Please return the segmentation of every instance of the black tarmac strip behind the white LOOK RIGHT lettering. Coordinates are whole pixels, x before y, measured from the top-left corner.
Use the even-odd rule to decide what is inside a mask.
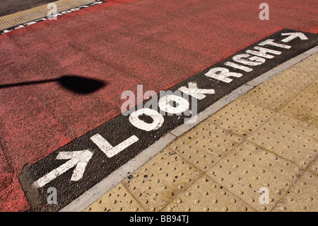
[[[290,33],[302,33],[303,35],[305,35],[305,38],[304,36],[302,36],[302,38],[293,37],[293,35],[290,35]],[[264,45],[264,42],[266,40],[270,40],[269,42],[273,42],[276,44]],[[284,41],[282,42],[282,40]],[[307,50],[310,50],[312,47],[317,46],[317,41],[317,34],[283,29],[281,31],[278,31],[277,33],[274,33],[273,35],[270,35],[267,38],[264,38],[264,40],[260,40],[254,45],[251,45],[244,50],[237,52],[235,55],[232,55],[227,59],[222,60],[221,62],[218,62],[217,64],[214,64],[207,69],[204,69],[199,74],[196,74],[193,77],[182,81],[169,90],[176,91],[182,86],[189,87],[189,83],[196,83],[198,89],[213,89],[215,91],[214,94],[204,94],[206,96],[205,98],[194,99],[195,101],[197,101],[197,113],[200,113],[205,108],[211,106],[220,98],[227,94],[230,94],[231,91],[234,91],[243,84],[246,84],[248,81],[257,78],[259,77],[259,75],[268,72],[270,69],[273,69],[279,64],[282,64],[283,62],[290,60],[297,55],[300,55],[302,52],[305,52]],[[287,46],[290,47],[286,48]],[[259,47],[263,47],[269,50],[275,50],[276,53],[267,52],[267,57],[270,57],[269,55],[272,55],[273,57],[271,59],[262,57],[266,60],[262,64],[259,64],[257,66],[248,65],[251,62],[259,62],[259,58],[251,58],[257,56]],[[250,53],[251,51],[249,50],[254,51],[255,55]],[[281,54],[278,55],[277,51],[281,52]],[[243,57],[243,59],[242,55],[246,56],[247,54],[249,56],[245,58]],[[241,62],[245,64],[238,62],[238,58],[240,58],[241,60],[243,59]],[[233,59],[236,59],[236,61],[234,61]],[[225,62],[232,62],[237,65],[245,66],[252,69],[252,71],[246,72],[242,69],[242,67],[241,69],[237,69],[232,66],[226,66]],[[223,68],[223,70],[228,69],[229,72],[240,73],[242,74],[242,76],[228,77],[232,79],[232,81],[225,82],[221,81],[220,79],[208,77],[207,75],[205,75],[208,72],[211,72],[211,69],[215,68]],[[185,96],[187,95],[184,95],[183,97],[186,98]],[[189,108],[192,108],[192,98],[188,99],[190,100]],[[151,101],[151,99],[148,101]],[[148,101],[144,101],[142,106],[145,106]],[[173,103],[170,104],[174,105]],[[177,104],[175,104],[175,106],[177,106]],[[159,140],[160,137],[163,137],[163,135],[165,135],[167,132],[176,128],[178,125],[182,125],[185,118],[190,117],[191,115],[186,116],[183,113],[182,115],[165,114],[163,115],[164,122],[159,128],[146,131],[136,128],[134,125],[132,125],[129,121],[129,115],[125,116],[121,114],[116,118],[108,121],[107,123],[100,125],[98,128],[95,128],[94,130],[88,132],[86,135],[78,137],[76,140],[73,140],[73,142],[70,142],[68,145],[60,147],[59,149],[57,149],[57,151],[49,154],[49,156],[41,159],[39,162],[36,162],[33,165],[25,166],[23,168],[23,172],[19,176],[19,179],[20,183],[23,186],[23,190],[25,191],[25,194],[28,198],[28,201],[30,202],[30,205],[32,207],[30,211],[61,210],[61,208],[64,208],[66,205],[71,203],[72,200],[81,196],[83,193],[85,193],[85,191],[88,191],[88,189],[93,187],[96,183],[99,183],[100,181],[102,181],[102,179],[105,179],[114,170],[118,169],[126,162],[129,162],[129,160],[133,159],[137,154],[142,152],[143,149],[146,149],[155,141]],[[153,122],[151,116],[149,115],[139,117],[139,119],[143,120],[145,123],[151,124]],[[113,147],[119,145],[119,143],[123,142],[133,135],[138,137],[138,141],[132,143],[118,154],[115,154],[113,157],[108,158],[106,154],[102,152],[102,150],[97,145],[95,145],[92,140],[90,140],[90,137],[93,137],[96,134],[101,135]],[[82,150],[89,150],[93,153],[93,156],[90,158],[88,164],[86,165],[85,172],[83,173],[83,177],[81,179],[79,179],[78,181],[71,181],[71,177],[74,176],[76,171],[76,167],[73,166],[67,171],[64,171],[64,173],[49,181],[49,183],[45,184],[44,186],[40,188],[36,188],[35,186],[33,186],[35,181],[43,178],[43,176],[49,174],[49,172],[56,170],[62,164],[70,161],[69,159],[57,159],[57,156],[60,152],[74,152]],[[50,190],[48,189],[51,187],[56,188],[57,190],[57,204],[49,204],[47,202],[47,198],[50,195],[50,193],[48,193],[48,191]]]

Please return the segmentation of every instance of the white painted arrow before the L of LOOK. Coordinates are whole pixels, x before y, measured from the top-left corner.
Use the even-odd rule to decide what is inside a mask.
[[[84,171],[86,169],[86,165],[90,161],[90,158],[93,156],[93,152],[90,152],[89,149],[77,152],[59,152],[57,155],[57,159],[70,159],[68,162],[62,164],[61,166],[57,167],[50,171],[45,176],[42,176],[40,179],[33,183],[35,188],[41,188],[45,186],[45,184],[53,181],[61,174],[64,174],[69,169],[76,166],[73,171],[73,175],[71,177],[71,181],[79,181],[82,179]]]

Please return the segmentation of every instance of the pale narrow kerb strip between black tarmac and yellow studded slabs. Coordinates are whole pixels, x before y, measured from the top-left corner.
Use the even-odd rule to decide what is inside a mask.
[[[216,101],[216,103],[213,103],[211,106],[206,108],[204,111],[201,111],[197,115],[196,123],[183,124],[175,128],[174,130],[171,130],[165,136],[160,138],[160,140],[153,143],[153,145],[144,149],[140,154],[134,157],[134,159],[131,159],[122,167],[112,172],[112,174],[100,181],[100,183],[95,184],[95,186],[83,193],[83,195],[81,195],[80,197],[76,198],[76,200],[73,200],[69,205],[66,205],[64,208],[60,210],[60,212],[81,212],[85,210],[90,204],[94,203],[95,200],[98,200],[98,198],[110,191],[112,188],[114,188],[114,186],[117,186],[118,183],[124,180],[132,172],[136,171],[136,169],[139,169],[140,166],[142,166],[150,159],[155,157],[156,154],[158,154],[161,150],[167,147],[167,145],[169,145],[177,137],[183,135],[184,132],[191,130],[213,113],[216,113],[232,101],[235,101],[237,98],[247,93],[247,91],[254,89],[255,86],[258,86],[262,82],[271,79],[276,74],[285,71],[285,69],[292,67],[293,65],[297,64],[302,60],[305,60],[307,57],[310,57],[311,55],[314,55],[317,52],[318,45],[310,50],[307,50],[306,52],[303,52],[297,57],[283,62],[283,64],[280,64],[277,67],[274,67],[273,69],[269,70],[268,72],[261,74],[259,77],[247,82],[247,84],[244,84],[239,88],[235,89],[230,94],[224,96],[223,98],[220,98],[220,100]]]

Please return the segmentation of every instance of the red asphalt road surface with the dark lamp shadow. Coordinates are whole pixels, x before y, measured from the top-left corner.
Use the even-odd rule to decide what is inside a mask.
[[[107,86],[74,94],[50,82],[0,89],[0,211],[29,210],[18,181],[33,164],[120,114],[122,91],[165,90],[283,28],[318,32],[317,0],[108,0],[0,35],[0,86],[63,75]]]

